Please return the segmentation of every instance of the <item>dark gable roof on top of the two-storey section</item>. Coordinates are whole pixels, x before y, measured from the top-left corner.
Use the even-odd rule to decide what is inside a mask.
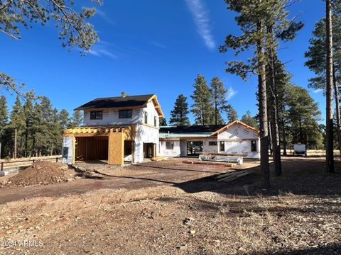
[[[107,98],[94,98],[92,101],[78,106],[75,111],[87,109],[104,109],[104,108],[136,108],[145,107],[147,103],[153,101],[159,117],[163,118],[161,106],[155,94],[138,95],[138,96],[115,96]]]

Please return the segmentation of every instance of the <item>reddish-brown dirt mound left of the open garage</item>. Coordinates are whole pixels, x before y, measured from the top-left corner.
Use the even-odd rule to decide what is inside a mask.
[[[54,162],[35,162],[8,180],[9,185],[29,186],[67,181],[69,166]]]

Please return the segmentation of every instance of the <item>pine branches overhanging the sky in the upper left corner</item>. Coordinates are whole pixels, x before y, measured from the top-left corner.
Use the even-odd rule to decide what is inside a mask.
[[[101,4],[100,0],[95,0]],[[32,28],[32,23],[42,26],[55,21],[63,47],[79,47],[81,54],[90,51],[98,41],[97,33],[87,19],[94,16],[96,8],[82,7],[77,11],[73,1],[0,1],[0,32],[13,39],[21,38],[21,28]],[[17,91],[15,80],[0,70],[0,86]]]

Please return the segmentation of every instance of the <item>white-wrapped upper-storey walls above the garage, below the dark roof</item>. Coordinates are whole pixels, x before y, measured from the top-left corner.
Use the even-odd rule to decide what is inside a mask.
[[[127,108],[129,110],[129,108]],[[153,102],[147,103],[144,108],[131,108],[131,118],[119,118],[119,109],[104,109],[102,120],[90,120],[90,112],[102,111],[100,109],[84,110],[83,125],[127,125],[144,123],[144,113],[148,113],[149,125],[154,125],[154,116],[156,116],[156,126],[158,127],[158,113]]]

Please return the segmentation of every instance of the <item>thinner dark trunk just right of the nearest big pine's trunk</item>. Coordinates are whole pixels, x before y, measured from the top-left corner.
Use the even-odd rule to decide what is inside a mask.
[[[272,36],[272,29],[269,28],[268,33]],[[273,42],[269,47],[269,68],[270,68],[270,91],[271,91],[271,142],[272,149],[274,151],[274,168],[276,176],[282,175],[282,163],[281,163],[281,147],[279,145],[279,131],[278,131],[278,103],[277,103],[277,88],[275,80],[275,56]]]

